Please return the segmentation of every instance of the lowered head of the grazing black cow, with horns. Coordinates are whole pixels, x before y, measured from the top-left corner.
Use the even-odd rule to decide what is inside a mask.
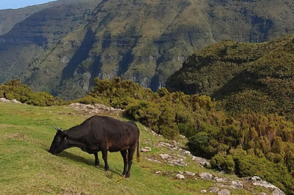
[[[51,143],[49,152],[51,154],[58,154],[62,152],[64,149],[68,148],[68,138],[69,136],[64,132],[64,130],[56,127],[54,125],[54,128],[56,129],[56,135],[54,136],[54,139]]]

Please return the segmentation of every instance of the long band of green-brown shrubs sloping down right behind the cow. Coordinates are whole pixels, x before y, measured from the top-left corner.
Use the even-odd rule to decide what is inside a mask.
[[[255,112],[228,117],[216,111],[216,102],[208,96],[169,93],[166,88],[155,93],[119,78],[96,78],[95,83],[85,97],[90,102],[125,109],[126,115],[169,139],[181,133],[188,137],[191,152],[212,158],[213,167],[240,176],[259,175],[294,194],[294,125],[285,117]]]

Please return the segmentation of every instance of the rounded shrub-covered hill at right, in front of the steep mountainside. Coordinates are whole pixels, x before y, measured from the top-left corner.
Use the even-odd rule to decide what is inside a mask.
[[[264,43],[222,41],[191,56],[167,88],[210,95],[232,115],[253,110],[293,121],[293,51],[293,35]]]

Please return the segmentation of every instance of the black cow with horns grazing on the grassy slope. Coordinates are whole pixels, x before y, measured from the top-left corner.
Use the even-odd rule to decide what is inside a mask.
[[[123,122],[111,117],[93,116],[81,125],[71,127],[69,130],[54,127],[57,132],[49,149],[51,154],[58,154],[67,148],[78,147],[84,152],[94,154],[95,166],[99,166],[97,153],[101,151],[105,170],[109,171],[107,151],[120,151],[124,163],[122,175],[126,178],[130,177],[136,148],[137,160],[139,161],[139,129],[135,122]]]

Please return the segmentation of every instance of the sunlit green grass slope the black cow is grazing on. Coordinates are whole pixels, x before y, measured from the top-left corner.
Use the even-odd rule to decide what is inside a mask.
[[[123,161],[119,152],[108,153],[111,172],[93,166],[94,156],[78,148],[67,149],[54,156],[48,151],[56,130],[53,124],[69,128],[87,117],[71,115],[67,107],[34,107],[0,103],[0,194],[202,194],[214,186],[201,179],[170,179],[178,171],[212,172],[191,159],[188,167],[150,162],[144,157],[167,153],[152,143],[167,141],[154,136],[138,124],[140,147],[149,146],[151,153],[141,153],[141,161],[133,162],[131,177],[121,179]],[[152,143],[151,143],[152,142]],[[156,176],[155,171],[167,171]],[[215,173],[217,174],[217,173]],[[229,176],[233,177],[233,176]],[[209,190],[208,190],[209,191]],[[233,191],[245,194],[245,190]],[[210,194],[210,193],[206,193]]]

